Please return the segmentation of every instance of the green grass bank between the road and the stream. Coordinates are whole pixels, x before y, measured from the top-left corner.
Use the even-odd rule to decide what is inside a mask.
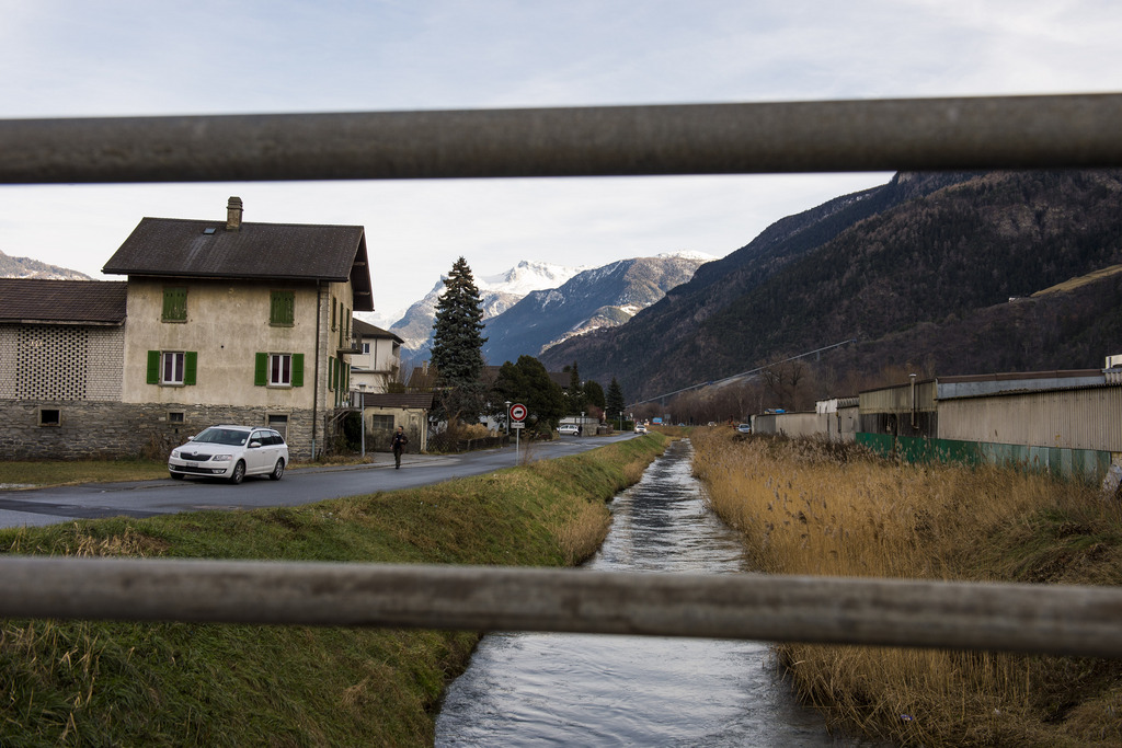
[[[585,454],[298,508],[0,530],[0,552],[563,566],[659,434]],[[0,745],[425,746],[473,631],[0,621]]]

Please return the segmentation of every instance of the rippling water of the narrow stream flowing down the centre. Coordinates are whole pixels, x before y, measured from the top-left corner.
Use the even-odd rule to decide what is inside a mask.
[[[597,571],[745,570],[675,442],[610,505]],[[493,634],[449,687],[436,746],[853,746],[798,704],[765,644]]]

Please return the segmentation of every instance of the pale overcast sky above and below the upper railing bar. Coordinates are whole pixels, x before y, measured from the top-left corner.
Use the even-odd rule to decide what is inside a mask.
[[[0,118],[1122,91],[1116,0],[0,0]],[[0,187],[0,251],[102,278],[142,216],[366,227],[388,325],[459,256],[723,257],[888,174]]]

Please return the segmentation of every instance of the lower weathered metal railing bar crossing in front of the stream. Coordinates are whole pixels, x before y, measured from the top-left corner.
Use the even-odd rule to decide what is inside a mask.
[[[1122,590],[491,566],[0,558],[0,617],[573,631],[1122,656]]]

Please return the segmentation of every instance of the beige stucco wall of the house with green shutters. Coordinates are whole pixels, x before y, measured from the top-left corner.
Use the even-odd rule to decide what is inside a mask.
[[[165,286],[187,288],[187,321],[163,322]],[[294,324],[269,324],[269,294],[295,294]],[[236,405],[266,410],[311,408],[319,389],[320,409],[328,399],[327,358],[339,342],[331,325],[331,298],[350,306],[350,284],[329,284],[322,301],[315,284],[248,281],[178,281],[129,278],[128,335],[125,345],[126,403]],[[346,299],[346,301],[344,301]],[[316,347],[316,311],[320,345]],[[148,351],[196,351],[193,386],[147,384]],[[303,387],[254,385],[255,354],[303,353]],[[319,388],[316,388],[316,376]]]

